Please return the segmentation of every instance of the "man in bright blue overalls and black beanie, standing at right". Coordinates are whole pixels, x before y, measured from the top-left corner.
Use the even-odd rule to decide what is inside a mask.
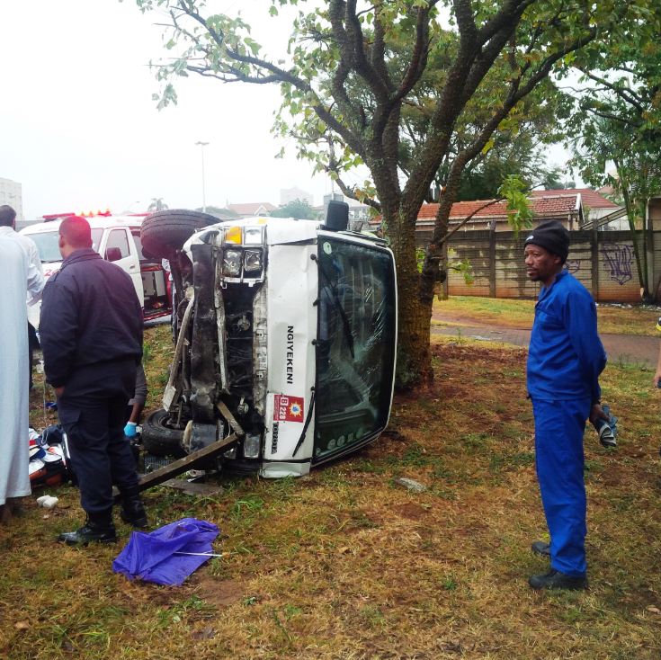
[[[535,418],[535,461],[550,543],[532,550],[550,557],[550,570],[532,575],[533,589],[585,589],[585,420],[607,418],[599,374],[606,354],[597,334],[594,300],[564,270],[569,232],[542,222],[525,239],[525,267],[539,281],[527,385]]]

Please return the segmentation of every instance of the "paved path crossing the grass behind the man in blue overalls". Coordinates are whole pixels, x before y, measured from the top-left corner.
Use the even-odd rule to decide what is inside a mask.
[[[489,326],[432,326],[432,334],[471,337],[483,341],[513,343],[528,347],[530,330]],[[640,364],[655,368],[659,350],[657,337],[639,337],[633,334],[601,334],[603,346],[608,353],[608,361]]]

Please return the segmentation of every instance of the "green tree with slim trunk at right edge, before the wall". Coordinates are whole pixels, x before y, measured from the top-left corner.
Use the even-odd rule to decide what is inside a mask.
[[[588,68],[589,67],[589,68]],[[571,90],[572,166],[594,186],[611,185],[627,210],[642,298],[648,280],[648,199],[661,194],[661,46],[620,44],[581,66]]]

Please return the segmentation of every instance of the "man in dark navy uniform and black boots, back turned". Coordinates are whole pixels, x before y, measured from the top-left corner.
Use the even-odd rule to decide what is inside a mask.
[[[142,357],[142,308],[130,276],[92,249],[84,218],[62,221],[59,251],[62,267],[43,292],[40,340],[87,520],[58,540],[112,542],[113,484],[122,497],[121,518],[147,525],[135,460],[124,438]]]

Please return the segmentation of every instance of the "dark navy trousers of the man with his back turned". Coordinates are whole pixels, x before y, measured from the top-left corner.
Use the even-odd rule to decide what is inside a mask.
[[[124,437],[124,417],[135,388],[134,361],[94,365],[76,371],[58,398],[71,464],[86,513],[112,509],[112,485],[138,486],[136,462]]]

